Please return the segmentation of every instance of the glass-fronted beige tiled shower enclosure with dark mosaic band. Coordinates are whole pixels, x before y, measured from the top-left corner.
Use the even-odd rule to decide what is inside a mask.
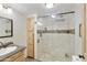
[[[39,17],[36,25],[37,59],[72,61],[75,44],[74,11],[51,15]]]

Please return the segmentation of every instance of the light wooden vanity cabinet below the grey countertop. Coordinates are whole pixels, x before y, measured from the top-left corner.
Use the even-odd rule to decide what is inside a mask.
[[[24,62],[24,61],[25,61],[24,51],[21,51],[6,58],[3,62]]]

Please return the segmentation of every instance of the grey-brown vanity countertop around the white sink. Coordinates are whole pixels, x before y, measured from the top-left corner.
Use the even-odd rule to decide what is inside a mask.
[[[25,46],[20,46],[20,45],[10,45],[10,46],[18,46],[18,48],[15,51],[7,54],[7,55],[0,56],[0,62],[2,62],[3,59],[6,59],[6,58],[8,58],[8,57],[10,57],[10,56],[12,56],[12,55],[17,54],[18,52],[20,52],[20,51],[25,48]]]

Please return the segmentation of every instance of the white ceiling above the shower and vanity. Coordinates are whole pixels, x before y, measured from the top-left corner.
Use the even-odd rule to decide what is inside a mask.
[[[47,9],[45,3],[7,3],[4,6],[9,6],[12,9],[18,10],[22,14],[53,14],[64,11],[70,11],[75,7],[75,3],[55,3],[54,8]]]

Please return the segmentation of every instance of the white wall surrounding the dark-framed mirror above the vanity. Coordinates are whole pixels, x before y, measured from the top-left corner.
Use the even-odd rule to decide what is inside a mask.
[[[12,14],[7,14],[7,11],[0,11],[0,17],[9,18],[13,20],[13,36],[0,39],[0,42],[10,42],[14,44],[24,45],[26,43],[25,36],[25,15],[21,14],[17,10],[13,10]]]

